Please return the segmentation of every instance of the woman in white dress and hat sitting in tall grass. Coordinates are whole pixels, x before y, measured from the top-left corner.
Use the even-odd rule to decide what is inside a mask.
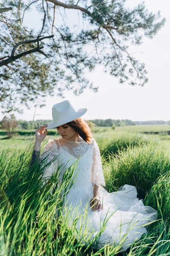
[[[55,158],[45,169],[43,184],[57,172],[58,166],[58,178],[62,180],[65,171],[76,163],[73,176],[74,178],[76,175],[76,179],[66,197],[67,205],[78,206],[79,215],[86,207],[87,225],[89,232],[94,231],[94,235],[100,232],[101,224],[106,223],[106,228],[99,238],[98,248],[105,244],[121,242],[123,251],[130,247],[134,240],[140,239],[143,233],[147,233],[145,227],[156,219],[157,212],[144,206],[142,200],[137,198],[134,186],[126,184],[119,191],[112,193],[102,187],[105,186],[105,179],[99,147],[88,123],[80,117],[86,111],[86,108],[76,111],[69,101],[54,105],[53,121],[40,126],[35,132],[36,141],[31,164],[40,155],[40,147],[47,135],[47,129],[57,128],[61,137],[49,140],[40,156],[40,160],[47,157],[48,161],[51,161]],[[74,215],[72,216],[71,220],[74,218]],[[77,229],[82,227],[85,228],[77,222]]]

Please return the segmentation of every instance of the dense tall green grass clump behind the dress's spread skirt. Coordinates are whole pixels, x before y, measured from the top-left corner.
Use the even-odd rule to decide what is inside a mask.
[[[170,158],[164,148],[152,141],[148,145],[119,151],[118,155],[109,155],[105,161],[109,192],[124,184],[136,186],[139,198],[144,198],[156,179],[170,171]]]

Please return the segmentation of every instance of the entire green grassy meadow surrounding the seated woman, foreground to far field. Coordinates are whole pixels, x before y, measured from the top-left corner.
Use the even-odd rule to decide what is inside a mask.
[[[6,139],[0,135],[0,256],[167,256],[170,255],[170,125],[95,127],[105,189],[114,192],[124,184],[136,186],[138,198],[158,211],[147,234],[126,252],[121,244],[97,249],[98,238],[76,233],[75,222],[62,215],[62,196],[72,185],[74,166],[68,169],[61,186],[57,172],[45,186],[41,175],[45,165],[29,167],[34,131],[19,131]],[[50,130],[48,140],[57,138]],[[47,166],[46,166],[47,167]],[[67,209],[69,211],[69,209]],[[76,211],[76,209],[75,209]],[[77,216],[82,218],[83,216]],[[107,225],[107,223],[105,224]],[[102,230],[101,230],[102,232]],[[77,235],[77,236],[76,236]],[[125,235],[126,239],[126,235]]]

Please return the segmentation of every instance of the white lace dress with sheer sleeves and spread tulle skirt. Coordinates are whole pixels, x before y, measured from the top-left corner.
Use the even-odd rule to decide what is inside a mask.
[[[47,157],[48,155],[48,157]],[[155,209],[144,206],[142,200],[137,198],[136,187],[125,184],[117,192],[108,193],[102,186],[105,180],[102,171],[100,151],[96,141],[88,144],[81,139],[79,143],[67,143],[64,140],[49,140],[45,146],[40,160],[47,157],[50,161],[57,158],[45,169],[43,178],[44,184],[51,175],[59,169],[59,180],[71,165],[76,162],[76,170],[73,178],[77,175],[73,186],[66,197],[67,206],[73,206],[67,212],[70,217],[69,225],[75,218],[75,208],[78,215],[86,212],[86,227],[82,224],[82,219],[77,220],[77,230],[84,231],[88,228],[89,234],[93,232],[91,239],[100,232],[103,223],[105,229],[98,239],[97,248],[105,244],[122,244],[121,250],[126,250],[133,241],[140,239],[143,233],[147,233],[146,227],[156,219]],[[78,160],[78,161],[77,161]],[[90,200],[93,198],[93,186],[96,184],[100,188],[100,198],[104,209],[92,211]],[[64,214],[64,213],[63,213]],[[77,232],[75,232],[77,233]],[[81,236],[80,236],[81,237]]]

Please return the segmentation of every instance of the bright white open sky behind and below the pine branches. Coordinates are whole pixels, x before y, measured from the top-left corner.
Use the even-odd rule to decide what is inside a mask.
[[[141,1],[128,0],[127,3],[129,6],[136,6]],[[37,116],[34,119],[52,119],[53,105],[68,99],[77,109],[88,108],[82,116],[84,119],[170,120],[170,3],[167,0],[145,0],[145,5],[154,13],[160,10],[162,17],[167,20],[153,39],[143,38],[141,46],[133,46],[129,50],[134,53],[133,56],[146,64],[149,82],[144,87],[132,87],[128,83],[122,85],[116,78],[103,73],[101,66],[86,74],[94,86],[99,86],[97,93],[87,89],[80,96],[68,91],[65,93],[65,99],[47,96],[46,106],[37,107]],[[34,18],[36,20],[36,17]],[[35,23],[32,17],[30,19]],[[17,119],[32,120],[35,108],[24,110],[23,114],[15,113]],[[0,119],[3,116],[0,113]]]

